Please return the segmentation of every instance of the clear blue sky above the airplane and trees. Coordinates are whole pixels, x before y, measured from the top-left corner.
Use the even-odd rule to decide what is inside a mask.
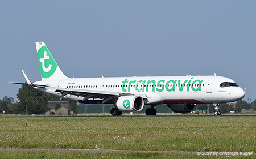
[[[40,80],[35,41],[65,75],[226,76],[256,98],[256,1],[1,1],[0,98]]]

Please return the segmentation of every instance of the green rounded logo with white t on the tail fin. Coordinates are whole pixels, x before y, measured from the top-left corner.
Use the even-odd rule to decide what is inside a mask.
[[[46,46],[42,46],[38,50],[38,59],[42,78],[51,77],[57,68],[57,63]]]

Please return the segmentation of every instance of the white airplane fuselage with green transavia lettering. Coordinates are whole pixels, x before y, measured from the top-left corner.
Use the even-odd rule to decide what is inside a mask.
[[[145,96],[145,104],[200,104],[223,103],[240,100],[245,92],[240,87],[220,87],[223,82],[234,83],[222,76],[147,76],[122,78],[68,78],[63,80],[43,80],[35,84],[49,85],[38,88],[61,97],[56,89],[76,90],[77,92],[118,92]],[[67,100],[82,101],[84,97],[68,95]],[[98,102],[93,102],[98,101]],[[89,98],[85,103],[101,103]]]

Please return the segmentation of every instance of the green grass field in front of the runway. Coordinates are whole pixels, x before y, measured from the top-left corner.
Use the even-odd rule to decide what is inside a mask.
[[[0,118],[0,148],[256,152],[255,136],[256,117]],[[18,156],[43,155],[42,152],[15,153]],[[48,152],[49,155],[54,153],[57,155],[61,152]],[[109,158],[106,157],[108,155],[113,158],[134,158],[137,154],[147,158],[150,153],[64,154],[96,155],[92,158],[98,158],[98,155],[104,158]],[[159,158],[158,155],[184,157],[183,154],[158,153],[150,156]]]

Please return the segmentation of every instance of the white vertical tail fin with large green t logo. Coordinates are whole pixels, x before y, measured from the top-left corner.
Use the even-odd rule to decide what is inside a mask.
[[[42,80],[67,79],[44,42],[36,42]]]

